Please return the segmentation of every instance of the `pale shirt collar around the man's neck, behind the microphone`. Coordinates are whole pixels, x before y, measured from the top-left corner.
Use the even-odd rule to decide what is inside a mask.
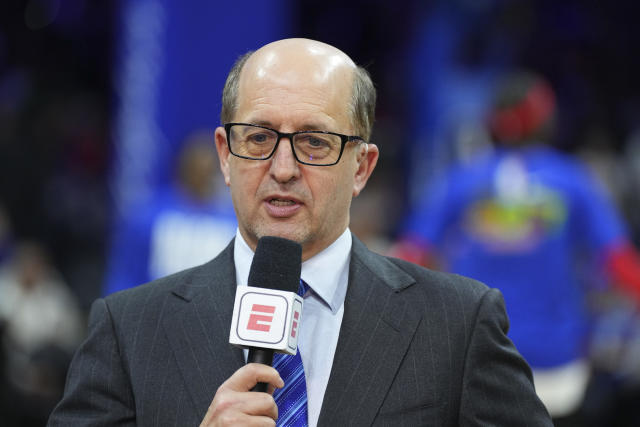
[[[331,308],[333,313],[338,311],[347,292],[351,244],[351,231],[347,228],[331,245],[302,263],[302,280]],[[236,267],[236,285],[246,285],[253,261],[253,251],[242,238],[240,230],[236,230],[233,257]]]

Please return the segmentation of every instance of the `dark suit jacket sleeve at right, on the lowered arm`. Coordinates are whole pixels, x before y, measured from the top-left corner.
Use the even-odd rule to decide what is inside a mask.
[[[506,336],[502,294],[481,298],[465,357],[460,425],[553,426],[533,386],[531,369]]]

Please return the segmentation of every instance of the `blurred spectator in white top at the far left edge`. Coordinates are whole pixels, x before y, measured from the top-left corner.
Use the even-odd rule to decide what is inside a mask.
[[[0,324],[7,425],[43,425],[62,396],[84,320],[44,249],[20,243],[0,267]]]

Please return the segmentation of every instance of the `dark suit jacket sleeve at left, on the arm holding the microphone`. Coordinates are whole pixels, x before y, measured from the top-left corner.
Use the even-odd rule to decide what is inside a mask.
[[[135,417],[111,314],[98,299],[91,307],[88,337],[71,362],[64,396],[47,425],[135,426]]]

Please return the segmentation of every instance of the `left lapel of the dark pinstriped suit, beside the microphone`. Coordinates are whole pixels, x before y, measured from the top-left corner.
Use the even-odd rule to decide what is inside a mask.
[[[244,365],[242,350],[228,344],[235,298],[233,241],[213,261],[173,290],[178,310],[164,331],[198,411],[206,412],[220,384]]]

